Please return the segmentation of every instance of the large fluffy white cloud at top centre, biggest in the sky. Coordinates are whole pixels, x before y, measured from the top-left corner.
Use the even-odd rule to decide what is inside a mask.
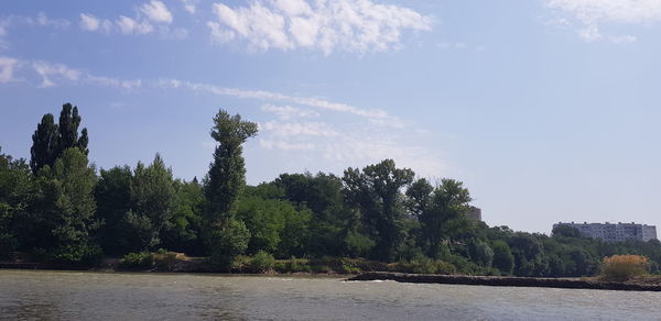
[[[371,0],[256,0],[249,7],[214,3],[212,37],[243,41],[251,49],[383,52],[401,46],[404,30],[429,31],[432,18]]]

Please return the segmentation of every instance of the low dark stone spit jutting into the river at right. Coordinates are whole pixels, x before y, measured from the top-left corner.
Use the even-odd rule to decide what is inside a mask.
[[[659,278],[635,278],[628,281],[603,281],[597,278],[537,278],[466,275],[424,275],[369,272],[350,277],[351,281],[394,280],[413,284],[475,285],[496,287],[540,287],[561,289],[598,289],[621,291],[661,291]]]

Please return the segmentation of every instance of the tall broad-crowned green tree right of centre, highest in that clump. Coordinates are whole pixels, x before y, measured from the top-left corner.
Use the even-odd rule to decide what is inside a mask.
[[[369,239],[376,240],[375,258],[391,261],[404,237],[404,209],[401,189],[413,181],[415,174],[397,168],[386,159],[361,170],[348,168],[343,181],[348,203],[358,209]]]

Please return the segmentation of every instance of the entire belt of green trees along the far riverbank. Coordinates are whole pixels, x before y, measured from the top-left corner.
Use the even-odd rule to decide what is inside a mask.
[[[57,123],[45,114],[37,124],[30,162],[0,150],[0,257],[90,266],[104,255],[165,248],[207,256],[219,268],[268,253],[517,276],[594,275],[614,254],[644,255],[653,272],[661,263],[657,240],[606,243],[568,226],[546,236],[473,221],[460,181],[432,184],[392,159],[342,176],[282,174],[247,186],[242,145],[258,126],[225,110],[213,119],[217,145],[202,180],[174,178],[159,154],[97,170],[80,124],[77,107],[66,103]]]

